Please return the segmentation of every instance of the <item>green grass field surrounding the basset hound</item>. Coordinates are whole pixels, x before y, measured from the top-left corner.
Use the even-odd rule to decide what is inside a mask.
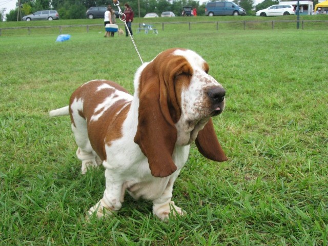
[[[91,79],[133,93],[131,39],[0,37],[1,245],[327,245],[328,33],[176,27],[135,33],[136,45],[145,61],[172,47],[208,61],[227,90],[214,124],[229,161],[192,145],[173,197],[187,215],[168,222],[129,195],[116,215],[86,221],[104,170],[81,175],[69,117],[48,116]]]

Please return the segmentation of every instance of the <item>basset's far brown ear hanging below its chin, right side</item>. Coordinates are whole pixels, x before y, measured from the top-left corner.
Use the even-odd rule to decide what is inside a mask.
[[[211,118],[204,126],[204,128],[198,132],[195,144],[199,152],[208,159],[214,161],[228,160],[216,137],[213,121]]]

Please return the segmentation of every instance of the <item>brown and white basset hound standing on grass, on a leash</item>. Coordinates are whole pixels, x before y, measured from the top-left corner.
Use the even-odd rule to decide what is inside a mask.
[[[92,80],[69,106],[50,111],[70,115],[82,173],[105,167],[104,196],[88,214],[118,211],[126,191],[151,200],[161,220],[185,213],[171,198],[190,144],[211,160],[227,160],[211,119],[222,113],[226,92],[208,71],[194,51],[169,49],[137,70],[133,96],[113,81]]]

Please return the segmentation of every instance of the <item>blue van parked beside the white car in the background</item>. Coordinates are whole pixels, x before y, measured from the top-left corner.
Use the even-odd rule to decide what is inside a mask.
[[[205,7],[205,15],[245,15],[246,11],[233,2],[209,2]]]

